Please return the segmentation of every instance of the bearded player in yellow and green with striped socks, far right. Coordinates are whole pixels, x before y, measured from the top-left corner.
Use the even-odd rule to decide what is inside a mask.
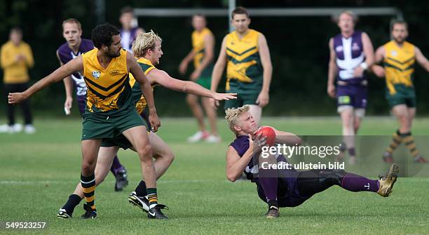
[[[383,67],[374,65],[376,76],[386,77],[386,100],[396,116],[400,128],[393,133],[393,140],[383,154],[384,161],[393,162],[393,151],[402,142],[407,146],[414,161],[428,162],[418,152],[411,135],[411,126],[416,115],[416,92],[413,86],[414,64],[416,61],[429,72],[429,61],[418,47],[405,41],[408,36],[407,22],[395,20],[392,23],[392,41],[380,46],[375,55],[377,63],[383,61]]]

